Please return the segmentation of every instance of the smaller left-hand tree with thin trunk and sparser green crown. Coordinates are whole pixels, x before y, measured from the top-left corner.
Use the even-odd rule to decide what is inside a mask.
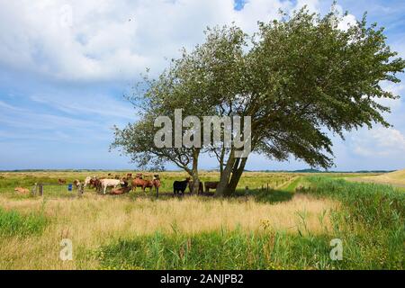
[[[154,135],[159,128],[154,121],[166,116],[175,123],[175,109],[182,109],[183,117],[196,116],[200,121],[205,115],[218,114],[217,109],[224,103],[217,95],[234,94],[229,87],[235,85],[239,76],[234,73],[235,57],[242,55],[245,34],[236,27],[229,30],[207,30],[207,41],[197,46],[192,53],[183,50],[183,56],[172,59],[171,65],[157,80],[145,76],[143,82],[128,98],[139,109],[139,121],[128,124],[124,129],[115,127],[112,148],[121,148],[123,154],[141,167],[161,167],[166,162],[175,163],[193,177],[193,192],[198,191],[198,157],[203,150],[213,148],[157,148]],[[220,90],[220,93],[219,93]],[[193,130],[193,125],[182,130]],[[170,136],[175,142],[175,134]]]

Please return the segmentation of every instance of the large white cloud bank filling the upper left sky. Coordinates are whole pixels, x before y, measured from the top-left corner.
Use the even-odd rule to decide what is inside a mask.
[[[318,0],[300,0],[316,10]],[[158,73],[166,57],[202,41],[206,26],[235,22],[247,31],[292,1],[0,0],[0,65],[67,81],[133,80]]]

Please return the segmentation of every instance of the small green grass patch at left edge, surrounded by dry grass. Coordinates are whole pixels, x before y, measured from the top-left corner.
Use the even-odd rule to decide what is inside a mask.
[[[48,224],[41,212],[22,215],[18,211],[5,211],[0,207],[0,237],[27,237],[40,235]]]

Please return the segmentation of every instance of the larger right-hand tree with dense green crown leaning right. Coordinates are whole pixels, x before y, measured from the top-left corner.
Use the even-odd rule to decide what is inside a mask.
[[[393,58],[397,53],[386,45],[383,29],[366,27],[364,17],[342,31],[335,12],[321,18],[305,8],[259,27],[247,53],[246,101],[238,110],[252,116],[254,151],[329,168],[333,152],[326,130],[344,139],[344,130],[389,126],[383,112],[390,109],[376,99],[395,98],[381,82],[400,82],[395,74],[405,62]],[[246,162],[230,151],[217,193],[235,191]]]

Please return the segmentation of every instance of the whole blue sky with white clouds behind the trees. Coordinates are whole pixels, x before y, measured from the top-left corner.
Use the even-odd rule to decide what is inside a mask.
[[[325,14],[327,0],[0,0],[0,170],[136,169],[109,151],[113,125],[137,120],[123,95],[146,67],[152,76],[203,40],[207,26],[257,21],[307,4]],[[338,1],[345,23],[361,19],[385,27],[388,43],[405,58],[405,1]],[[405,80],[404,75],[400,75]],[[354,171],[405,168],[405,83],[385,89],[401,95],[384,101],[392,128],[375,126],[334,137],[336,166]],[[205,155],[200,167],[216,163]],[[167,165],[168,169],[175,166]],[[249,170],[295,170],[308,165],[252,155]]]

